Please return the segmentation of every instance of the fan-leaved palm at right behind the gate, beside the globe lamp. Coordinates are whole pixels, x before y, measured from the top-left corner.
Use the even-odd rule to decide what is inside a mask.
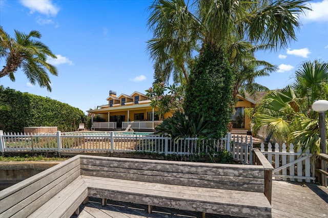
[[[318,113],[311,106],[315,100],[328,97],[328,62],[304,62],[295,74],[292,85],[263,98],[255,114],[256,125],[268,125],[281,141],[319,154]]]

